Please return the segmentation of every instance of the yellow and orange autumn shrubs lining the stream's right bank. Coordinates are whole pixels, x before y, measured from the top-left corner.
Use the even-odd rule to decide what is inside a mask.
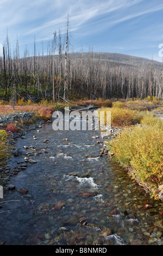
[[[156,117],[163,107],[149,111],[146,101],[117,101],[111,111],[111,125],[122,132],[107,144],[112,160],[127,170],[155,200],[159,200],[163,184],[163,121]]]

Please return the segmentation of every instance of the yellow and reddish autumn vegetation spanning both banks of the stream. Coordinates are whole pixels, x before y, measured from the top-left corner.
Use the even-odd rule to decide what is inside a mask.
[[[0,101],[0,118],[7,114],[35,112],[31,119],[0,124],[0,164],[3,166],[11,154],[8,137],[23,129],[23,124],[33,124],[36,119],[48,121],[54,111],[67,106],[94,105],[100,107],[99,112],[111,111],[111,126],[122,129],[107,144],[112,161],[126,169],[131,179],[142,186],[152,198],[159,200],[159,187],[163,185],[163,121],[155,116],[156,113],[163,112],[163,105],[159,105],[159,102],[154,97],[152,100],[147,98],[128,101],[86,99],[66,104],[47,100],[33,103],[20,99],[13,108],[11,104]]]

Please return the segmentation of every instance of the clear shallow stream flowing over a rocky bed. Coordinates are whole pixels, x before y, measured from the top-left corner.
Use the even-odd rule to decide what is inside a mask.
[[[20,166],[27,153],[37,162],[28,162],[27,169],[12,177],[16,189],[0,199],[0,242],[163,244],[163,203],[150,199],[109,155],[99,157],[102,145],[92,136],[104,141],[99,131],[54,131],[52,124],[45,124],[40,132],[30,131],[26,139],[17,140],[22,155],[11,158],[12,168]],[[65,138],[68,141],[62,141]],[[21,187],[28,192],[18,192]],[[153,208],[145,209],[146,204]]]

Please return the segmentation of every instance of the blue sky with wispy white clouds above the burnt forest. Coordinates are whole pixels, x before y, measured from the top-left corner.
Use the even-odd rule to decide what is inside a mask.
[[[114,52],[162,62],[163,1],[160,0],[0,0],[0,56],[9,38],[20,55],[42,54],[69,17],[69,51]]]

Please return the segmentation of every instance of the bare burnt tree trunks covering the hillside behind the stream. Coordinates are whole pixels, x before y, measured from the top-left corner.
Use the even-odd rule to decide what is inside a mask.
[[[40,99],[53,101],[76,99],[128,99],[156,97],[162,99],[162,64],[153,60],[116,53],[68,52],[61,33],[49,41],[45,56],[34,56],[24,50],[20,58],[18,40],[11,52],[7,35],[0,59],[0,93],[3,99],[14,99],[24,91]],[[65,45],[65,46],[64,46]],[[57,54],[56,54],[57,52]]]

